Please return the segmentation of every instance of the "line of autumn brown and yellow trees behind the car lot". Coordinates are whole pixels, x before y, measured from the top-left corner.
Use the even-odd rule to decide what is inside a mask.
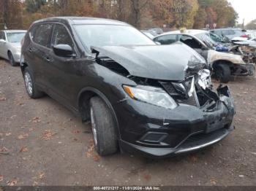
[[[227,0],[1,0],[0,28],[29,28],[55,16],[106,17],[144,29],[217,28],[236,25]]]

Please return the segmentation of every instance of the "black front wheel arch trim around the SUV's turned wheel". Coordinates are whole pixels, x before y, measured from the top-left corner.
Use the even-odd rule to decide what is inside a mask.
[[[105,104],[107,104],[108,109],[110,109],[110,112],[113,116],[113,120],[116,124],[117,130],[118,130],[118,137],[120,137],[118,120],[112,104],[110,103],[106,95],[104,95],[104,93],[102,93],[101,91],[97,90],[94,87],[84,87],[82,90],[80,90],[80,93],[78,94],[78,110],[79,110],[80,116],[82,117],[82,120],[83,121],[89,120],[90,118],[89,102],[90,102],[90,99],[94,96],[98,96],[105,102]]]

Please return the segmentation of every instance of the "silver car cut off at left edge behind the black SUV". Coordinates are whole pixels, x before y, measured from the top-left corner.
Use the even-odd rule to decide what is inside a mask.
[[[25,34],[21,30],[0,31],[0,57],[9,60],[12,66],[20,63],[20,42]]]

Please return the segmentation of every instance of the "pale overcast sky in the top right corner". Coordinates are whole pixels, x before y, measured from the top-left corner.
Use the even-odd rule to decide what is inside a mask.
[[[256,19],[256,0],[227,0],[238,13],[238,23],[247,24]]]

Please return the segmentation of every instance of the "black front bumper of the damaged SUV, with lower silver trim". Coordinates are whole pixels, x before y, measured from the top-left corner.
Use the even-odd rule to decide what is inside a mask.
[[[120,147],[146,157],[170,157],[203,149],[224,139],[233,130],[235,114],[227,87],[219,88],[219,101],[211,109],[180,104],[162,109],[137,101],[119,103]],[[124,120],[125,119],[125,120]]]

